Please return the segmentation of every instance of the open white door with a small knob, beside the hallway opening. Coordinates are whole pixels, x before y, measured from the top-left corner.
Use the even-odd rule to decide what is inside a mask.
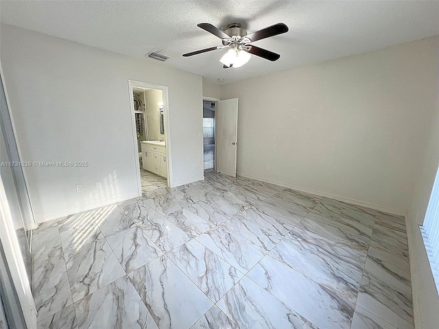
[[[215,114],[217,167],[220,173],[236,177],[238,99],[217,101]]]

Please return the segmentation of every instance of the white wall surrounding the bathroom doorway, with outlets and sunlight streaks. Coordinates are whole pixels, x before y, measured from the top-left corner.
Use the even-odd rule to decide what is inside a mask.
[[[26,169],[38,221],[139,193],[128,80],[168,86],[174,186],[202,179],[199,75],[10,25],[1,25],[0,47],[23,160],[88,162]]]

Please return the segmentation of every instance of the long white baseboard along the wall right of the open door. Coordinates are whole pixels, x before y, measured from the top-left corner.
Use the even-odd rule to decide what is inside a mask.
[[[347,204],[355,204],[356,206],[371,208],[371,209],[379,210],[382,212],[387,212],[388,214],[392,214],[392,215],[398,215],[398,216],[404,216],[404,217],[406,215],[406,213],[401,211],[401,210],[381,207],[381,206],[378,206],[376,204],[369,204],[368,202],[361,202],[359,200],[351,199],[349,197],[342,197],[340,195],[333,195],[330,193],[314,191],[314,190],[311,190],[309,188],[303,188],[301,186],[296,186],[296,185],[292,185],[292,184],[285,184],[282,182],[276,182],[274,180],[266,180],[265,178],[254,177],[252,175],[246,175],[244,173],[237,173],[237,175],[242,176],[244,178],[250,178],[252,180],[260,180],[261,182],[270,183],[270,184],[283,186],[283,187],[287,187],[287,188],[292,188],[293,190],[296,190],[299,192],[305,192],[305,193],[309,193],[309,194],[313,194],[313,195],[318,195],[320,197],[329,197],[330,199],[335,199],[337,201],[346,202]]]

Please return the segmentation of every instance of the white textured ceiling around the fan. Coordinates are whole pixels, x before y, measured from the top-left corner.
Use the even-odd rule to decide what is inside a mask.
[[[294,66],[363,53],[439,34],[439,1],[0,1],[2,23],[143,58],[159,51],[164,65],[227,84]],[[222,69],[224,49],[198,23],[238,22],[248,32],[285,23],[289,32],[254,43],[281,54],[277,62],[252,56]],[[152,61],[144,58],[145,61]],[[155,61],[154,61],[155,62]],[[224,82],[219,83],[218,78]]]

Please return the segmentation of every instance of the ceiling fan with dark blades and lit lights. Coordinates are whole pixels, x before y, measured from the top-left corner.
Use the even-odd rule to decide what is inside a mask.
[[[224,69],[243,66],[248,60],[250,60],[250,54],[265,58],[266,60],[271,60],[272,62],[278,60],[281,57],[278,53],[250,45],[250,43],[288,32],[288,27],[284,23],[274,24],[250,34],[247,34],[246,29],[243,29],[239,23],[228,24],[227,29],[224,31],[209,23],[200,23],[197,26],[214,34],[218,38],[221,38],[222,46],[192,51],[191,53],[183,54],[183,56],[189,57],[198,55],[199,53],[206,53],[207,51],[230,48],[224,56],[222,56],[221,60],[219,60],[219,62],[222,62]]]

